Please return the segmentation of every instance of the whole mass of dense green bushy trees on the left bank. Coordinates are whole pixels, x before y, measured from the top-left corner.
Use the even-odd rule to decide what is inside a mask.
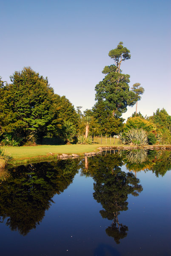
[[[0,140],[6,145],[41,142],[47,134],[63,137],[65,121],[78,131],[74,106],[65,96],[54,94],[47,77],[24,67],[10,79],[11,84],[6,85],[0,79]]]

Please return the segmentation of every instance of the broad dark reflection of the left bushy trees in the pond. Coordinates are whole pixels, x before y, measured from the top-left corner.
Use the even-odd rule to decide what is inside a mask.
[[[0,186],[2,220],[8,217],[6,224],[22,235],[36,228],[53,202],[53,196],[63,192],[72,182],[77,166],[77,160],[62,160],[10,169],[9,179]]]

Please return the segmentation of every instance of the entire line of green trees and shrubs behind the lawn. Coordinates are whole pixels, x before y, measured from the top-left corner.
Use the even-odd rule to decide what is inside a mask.
[[[144,89],[140,83],[130,89],[130,76],[120,69],[122,61],[131,58],[130,51],[120,42],[108,55],[114,64],[104,67],[105,77],[95,86],[96,103],[83,113],[81,106],[75,110],[65,96],[55,94],[47,77],[31,67],[15,71],[10,84],[0,78],[1,145],[42,143],[44,137],[55,138],[57,143],[91,143],[88,134],[114,136],[120,132],[124,143],[133,128],[145,130],[151,144],[157,140],[171,143],[171,116],[164,109],[148,118],[137,113]],[[135,114],[123,124],[122,114],[135,104]]]

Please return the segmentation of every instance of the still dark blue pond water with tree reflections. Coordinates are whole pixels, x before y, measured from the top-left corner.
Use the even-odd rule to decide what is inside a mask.
[[[1,173],[1,256],[170,256],[171,152],[111,151]]]

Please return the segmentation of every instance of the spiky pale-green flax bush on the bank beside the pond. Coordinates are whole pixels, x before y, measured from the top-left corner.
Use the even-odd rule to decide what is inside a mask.
[[[143,129],[131,129],[124,134],[120,134],[119,138],[121,142],[124,141],[128,145],[148,145],[148,137],[146,131]]]

